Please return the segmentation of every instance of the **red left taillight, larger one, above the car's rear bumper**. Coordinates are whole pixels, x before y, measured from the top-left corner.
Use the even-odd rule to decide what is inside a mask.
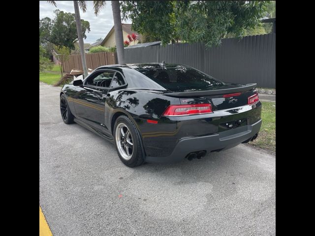
[[[212,113],[211,104],[170,105],[166,108],[162,116],[189,116],[205,113]]]

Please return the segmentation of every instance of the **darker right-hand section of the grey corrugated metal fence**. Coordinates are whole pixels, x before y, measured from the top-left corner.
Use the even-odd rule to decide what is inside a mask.
[[[223,39],[205,49],[204,72],[224,82],[276,88],[276,34]]]

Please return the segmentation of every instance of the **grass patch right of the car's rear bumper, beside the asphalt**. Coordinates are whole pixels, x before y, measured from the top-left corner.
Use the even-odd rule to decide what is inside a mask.
[[[249,145],[276,152],[276,103],[262,103],[262,124],[257,139]]]

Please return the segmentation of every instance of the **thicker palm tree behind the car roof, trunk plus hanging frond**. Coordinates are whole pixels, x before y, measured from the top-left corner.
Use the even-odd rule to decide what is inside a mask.
[[[120,14],[120,4],[119,1],[111,1],[112,2],[112,11],[114,18],[114,29],[115,29],[115,41],[116,41],[116,50],[118,63],[125,64],[125,56],[124,56],[124,37],[123,37],[123,28],[122,28],[122,20]],[[94,4],[94,12],[97,16],[100,9],[105,6],[105,1],[93,1]]]

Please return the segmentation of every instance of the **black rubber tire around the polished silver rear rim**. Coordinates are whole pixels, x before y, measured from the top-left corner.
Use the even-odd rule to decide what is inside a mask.
[[[129,160],[126,160],[120,153],[119,151],[119,147],[117,146],[117,141],[116,141],[116,129],[117,126],[121,126],[121,125],[126,125],[126,127],[128,128],[128,131],[130,131],[131,133],[131,137],[132,137],[132,155],[131,158]],[[120,134],[120,133],[119,133]],[[137,129],[135,127],[135,125],[133,124],[133,122],[127,118],[126,116],[120,116],[116,119],[115,121],[115,125],[114,125],[114,143],[115,143],[115,147],[116,147],[116,151],[118,153],[118,156],[120,158],[120,160],[128,167],[136,167],[136,166],[140,166],[141,164],[144,163],[144,156],[143,156],[143,152],[142,152],[142,146],[141,146],[141,142],[140,142],[140,137],[138,135]]]

